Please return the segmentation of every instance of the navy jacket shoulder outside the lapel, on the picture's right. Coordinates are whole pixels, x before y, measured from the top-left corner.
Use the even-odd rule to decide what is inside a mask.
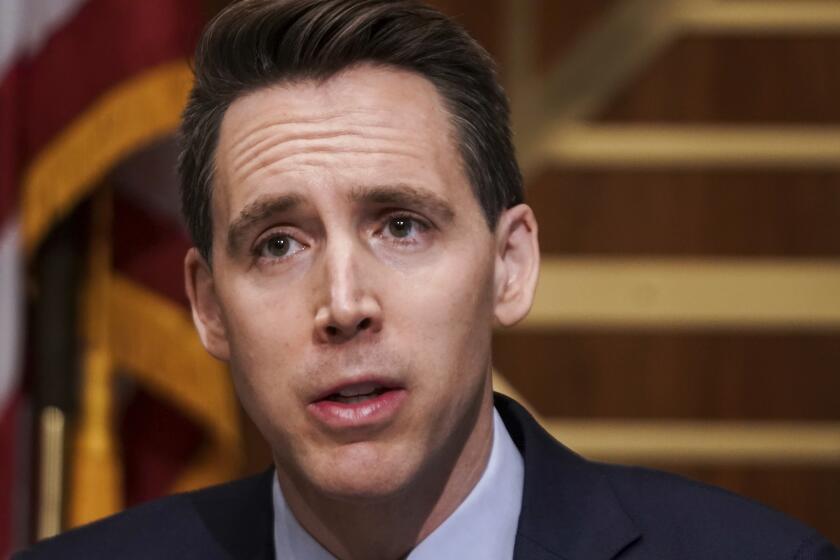
[[[679,558],[840,560],[814,529],[758,502],[662,471],[592,465],[638,526],[639,549],[655,545]]]

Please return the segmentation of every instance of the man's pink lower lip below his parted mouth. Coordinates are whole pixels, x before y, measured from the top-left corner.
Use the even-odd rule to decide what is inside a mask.
[[[405,389],[394,389],[355,403],[322,400],[310,404],[308,408],[318,420],[330,428],[367,428],[391,420],[405,397]]]

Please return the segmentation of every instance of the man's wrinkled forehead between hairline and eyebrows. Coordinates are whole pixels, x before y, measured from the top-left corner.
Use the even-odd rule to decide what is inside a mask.
[[[462,175],[450,115],[429,80],[361,65],[249,93],[222,120],[216,187],[231,203],[266,183],[364,169],[415,175],[392,178],[398,182]]]

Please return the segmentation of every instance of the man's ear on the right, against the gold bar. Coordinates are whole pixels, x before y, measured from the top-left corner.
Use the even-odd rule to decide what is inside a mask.
[[[505,210],[496,225],[494,316],[505,327],[525,318],[534,301],[540,274],[537,220],[531,207]]]

